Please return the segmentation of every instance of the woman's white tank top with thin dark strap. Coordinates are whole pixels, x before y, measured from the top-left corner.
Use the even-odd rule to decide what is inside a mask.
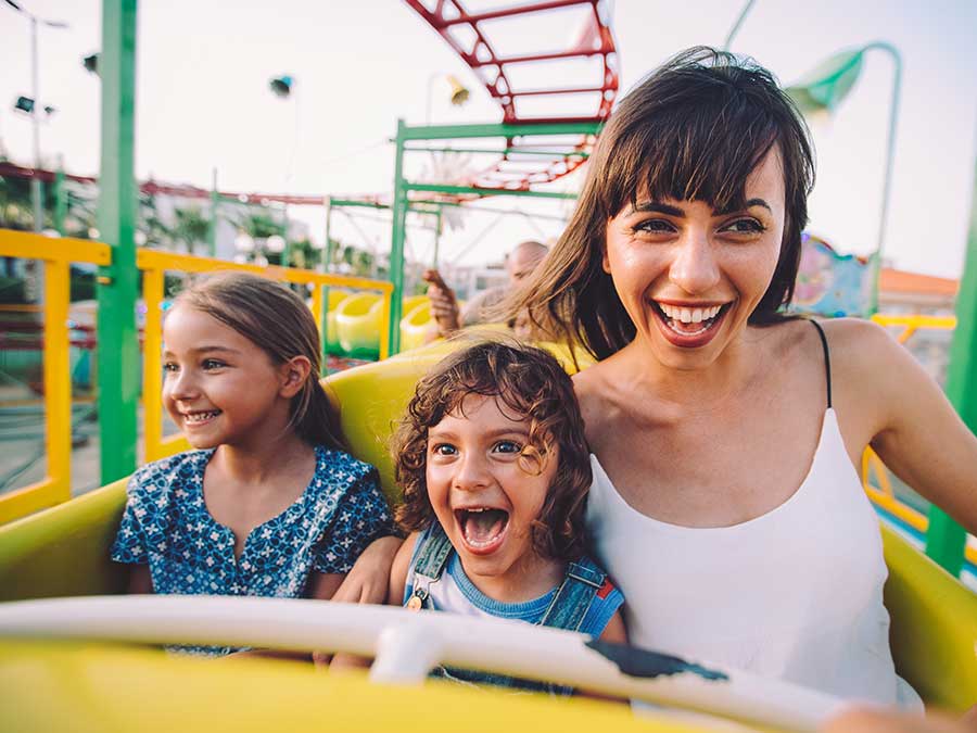
[[[845,698],[922,707],[896,675],[878,519],[835,410],[797,492],[721,528],[632,508],[597,456],[587,526],[625,598],[631,644],[787,680]]]

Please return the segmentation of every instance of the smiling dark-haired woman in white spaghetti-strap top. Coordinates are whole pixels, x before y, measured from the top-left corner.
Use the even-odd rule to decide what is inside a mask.
[[[587,526],[633,644],[918,705],[893,669],[858,466],[872,445],[974,531],[977,440],[879,328],[784,313],[812,184],[771,74],[682,53],[612,115],[511,313],[600,359],[574,377]]]

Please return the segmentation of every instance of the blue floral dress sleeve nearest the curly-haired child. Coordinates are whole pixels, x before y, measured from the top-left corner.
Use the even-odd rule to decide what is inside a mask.
[[[354,483],[335,508],[335,520],[315,551],[313,570],[350,572],[360,553],[376,539],[393,534],[390,507],[377,471]]]

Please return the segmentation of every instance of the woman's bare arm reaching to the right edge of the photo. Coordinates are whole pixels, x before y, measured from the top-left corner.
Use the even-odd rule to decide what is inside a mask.
[[[852,387],[861,395],[855,404],[872,400],[863,403],[876,418],[872,447],[900,479],[977,533],[977,438],[913,355],[885,330],[849,321],[840,333],[848,374],[839,377],[854,375]]]

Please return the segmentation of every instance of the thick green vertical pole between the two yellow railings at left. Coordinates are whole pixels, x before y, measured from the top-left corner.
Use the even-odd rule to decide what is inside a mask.
[[[140,369],[136,331],[135,176],[137,0],[102,0],[102,163],[99,231],[112,264],[99,274],[99,429],[103,484],[136,469]],[[155,355],[148,354],[147,358]]]

